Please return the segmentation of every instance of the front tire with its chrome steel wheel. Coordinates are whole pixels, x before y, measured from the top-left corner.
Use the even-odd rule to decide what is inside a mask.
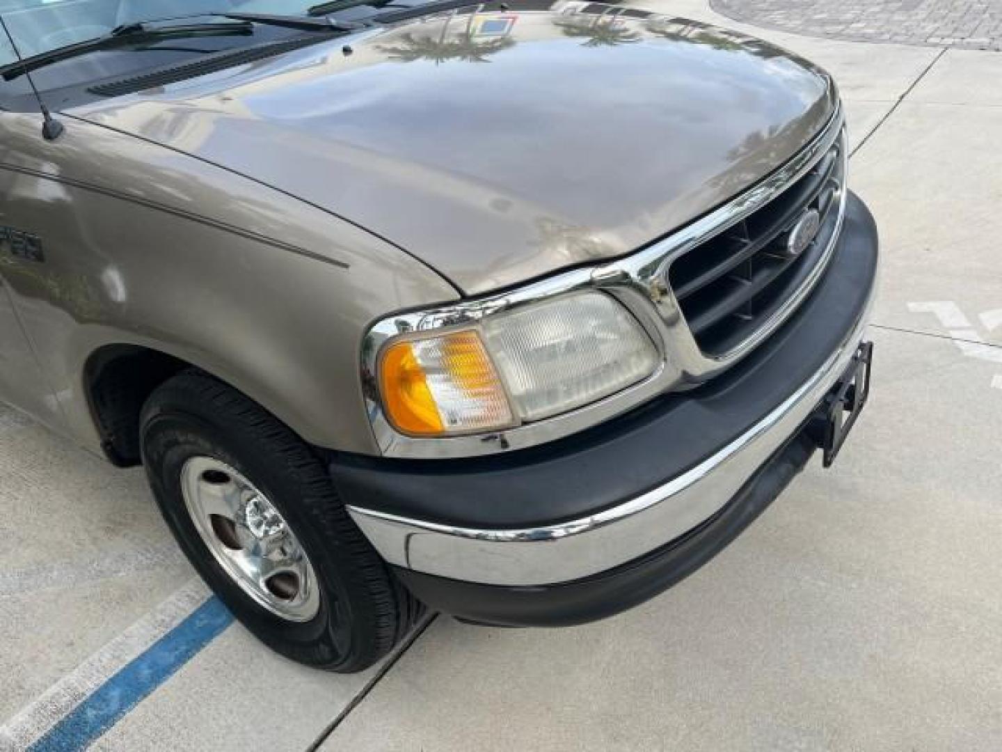
[[[321,461],[255,402],[182,372],[146,402],[140,441],[184,553],[274,650],[361,671],[417,621],[420,605],[349,517]]]

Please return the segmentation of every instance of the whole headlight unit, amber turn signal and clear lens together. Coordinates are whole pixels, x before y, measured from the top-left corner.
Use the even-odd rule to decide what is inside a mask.
[[[585,292],[394,342],[380,358],[379,383],[398,430],[449,435],[568,412],[643,380],[659,362],[621,305]]]

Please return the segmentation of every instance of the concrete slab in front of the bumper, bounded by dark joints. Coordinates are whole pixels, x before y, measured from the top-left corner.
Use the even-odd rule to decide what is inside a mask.
[[[439,619],[322,749],[1002,748],[994,369],[874,340],[845,454],[705,568],[570,630]]]

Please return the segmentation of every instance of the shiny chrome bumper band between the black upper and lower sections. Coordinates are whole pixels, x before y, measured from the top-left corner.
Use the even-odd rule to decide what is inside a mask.
[[[713,516],[804,424],[863,340],[873,297],[838,350],[789,398],[712,456],[625,503],[578,519],[524,529],[471,529],[349,506],[390,563],[428,575],[502,586],[550,585],[642,556]]]

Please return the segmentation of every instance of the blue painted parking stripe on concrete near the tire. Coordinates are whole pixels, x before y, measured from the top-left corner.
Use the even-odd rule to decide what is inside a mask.
[[[29,749],[31,752],[86,749],[232,621],[232,616],[217,598],[208,599],[145,653],[94,690]]]

